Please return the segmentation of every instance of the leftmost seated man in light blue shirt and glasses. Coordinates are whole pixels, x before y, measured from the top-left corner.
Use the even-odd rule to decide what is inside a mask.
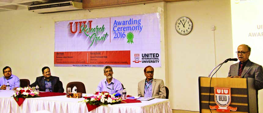
[[[2,90],[6,90],[6,84],[9,82],[9,89],[17,89],[20,87],[20,79],[12,74],[12,70],[10,67],[6,66],[3,68],[4,76],[0,78],[0,86]]]

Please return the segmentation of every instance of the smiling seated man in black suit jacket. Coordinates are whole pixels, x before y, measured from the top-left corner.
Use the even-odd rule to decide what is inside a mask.
[[[39,91],[43,92],[59,92],[63,93],[64,88],[62,82],[56,76],[51,76],[50,68],[42,68],[43,76],[37,77],[35,82],[30,85],[30,87],[39,86]]]

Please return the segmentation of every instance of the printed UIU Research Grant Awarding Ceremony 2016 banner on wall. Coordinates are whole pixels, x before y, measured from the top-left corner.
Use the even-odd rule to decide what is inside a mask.
[[[161,67],[158,13],[55,22],[54,66]]]

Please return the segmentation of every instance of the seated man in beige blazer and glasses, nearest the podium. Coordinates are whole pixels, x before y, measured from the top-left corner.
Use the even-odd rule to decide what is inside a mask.
[[[145,67],[144,75],[146,79],[143,79],[138,83],[138,97],[165,99],[166,91],[164,82],[161,79],[154,79],[154,68],[151,66]]]

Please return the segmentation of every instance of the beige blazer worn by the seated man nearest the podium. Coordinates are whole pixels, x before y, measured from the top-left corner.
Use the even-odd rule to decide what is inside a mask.
[[[144,86],[145,79],[138,83],[138,97],[144,97]],[[153,88],[152,95],[154,98],[163,98],[166,97],[164,81],[161,79],[153,79]]]

